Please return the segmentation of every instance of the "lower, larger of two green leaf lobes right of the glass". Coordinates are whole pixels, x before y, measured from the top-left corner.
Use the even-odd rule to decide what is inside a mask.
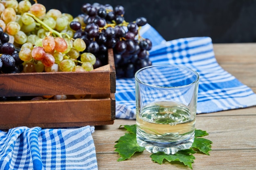
[[[191,148],[198,149],[200,152],[203,152],[206,155],[210,155],[212,141],[204,138],[195,137],[194,142]]]

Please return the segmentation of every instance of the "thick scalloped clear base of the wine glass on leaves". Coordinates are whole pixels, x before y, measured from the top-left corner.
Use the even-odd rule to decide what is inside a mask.
[[[139,146],[145,147],[150,153],[164,152],[167,155],[173,155],[179,150],[189,149],[194,142],[194,138],[195,134],[193,133],[193,135],[184,140],[175,142],[159,142],[144,139],[137,135],[137,143]]]

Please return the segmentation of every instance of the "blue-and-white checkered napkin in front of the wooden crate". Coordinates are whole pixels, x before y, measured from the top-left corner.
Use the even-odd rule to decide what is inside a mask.
[[[0,131],[0,170],[97,170],[90,126]]]

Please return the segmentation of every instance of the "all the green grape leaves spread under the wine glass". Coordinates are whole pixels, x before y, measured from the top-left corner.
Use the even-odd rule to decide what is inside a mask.
[[[117,161],[130,159],[135,152],[143,152],[145,150],[144,147],[137,144],[136,125],[121,125],[120,128],[121,127],[125,128],[128,133],[120,137],[116,141],[117,144],[114,146],[116,148],[115,151],[120,155]],[[209,155],[211,151],[212,141],[202,138],[206,135],[209,135],[206,131],[196,129],[195,139],[190,149],[179,150],[174,155],[166,155],[164,152],[157,152],[150,155],[151,160],[159,164],[162,164],[164,159],[169,162],[180,161],[185,166],[192,169],[192,163],[194,163],[195,159],[194,154],[198,152],[198,150],[206,155]]]

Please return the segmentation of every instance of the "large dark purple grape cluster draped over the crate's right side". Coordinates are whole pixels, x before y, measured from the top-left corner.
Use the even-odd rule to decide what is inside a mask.
[[[134,77],[138,69],[151,65],[148,51],[152,43],[139,35],[140,27],[147,24],[146,18],[126,22],[120,5],[86,3],[81,11],[70,23],[76,31],[73,38],[84,40],[85,52],[94,54],[98,65],[107,64],[108,49],[114,52],[117,78]]]

